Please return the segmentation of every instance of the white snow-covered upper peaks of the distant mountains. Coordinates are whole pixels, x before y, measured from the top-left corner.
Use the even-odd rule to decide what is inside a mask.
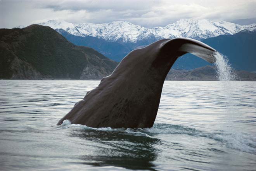
[[[256,24],[241,26],[226,21],[213,22],[209,19],[180,19],[165,27],[154,28],[146,28],[126,21],[113,21],[104,24],[73,24],[66,21],[50,20],[38,24],[52,27],[57,31],[63,29],[74,36],[92,36],[106,41],[121,41],[124,43],[136,43],[152,37],[155,39],[186,37],[202,40],[223,34],[235,34],[244,29],[256,27]]]

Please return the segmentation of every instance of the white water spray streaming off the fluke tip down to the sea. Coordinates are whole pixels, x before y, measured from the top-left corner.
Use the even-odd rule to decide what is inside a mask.
[[[235,88],[234,81],[238,79],[238,76],[228,63],[227,56],[223,56],[217,52],[214,57],[216,58],[214,64],[216,65],[217,78],[220,81],[220,88],[223,95],[223,112],[225,112],[222,125],[225,132],[220,136],[227,143],[228,147],[243,149],[242,146],[245,143],[244,138],[241,137],[239,130],[235,127],[235,121],[239,120],[239,111],[236,109],[232,91]]]

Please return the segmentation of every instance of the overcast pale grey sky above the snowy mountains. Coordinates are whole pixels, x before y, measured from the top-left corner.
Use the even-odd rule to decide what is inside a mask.
[[[145,27],[178,19],[256,23],[256,0],[0,0],[0,28],[45,22],[128,21]]]

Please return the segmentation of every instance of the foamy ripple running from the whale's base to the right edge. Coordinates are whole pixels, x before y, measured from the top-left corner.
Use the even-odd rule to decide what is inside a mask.
[[[243,133],[225,132],[224,130],[219,130],[217,132],[206,132],[182,125],[172,125],[165,123],[156,123],[152,128],[92,128],[80,124],[71,124],[69,120],[64,120],[62,125],[59,126],[57,129],[66,129],[74,127],[83,130],[116,132],[134,136],[143,136],[152,139],[155,139],[155,134],[185,134],[194,137],[206,137],[208,139],[213,139],[218,142],[224,143],[227,148],[236,149],[239,151],[253,154],[256,153],[256,137],[251,137],[250,135]]]

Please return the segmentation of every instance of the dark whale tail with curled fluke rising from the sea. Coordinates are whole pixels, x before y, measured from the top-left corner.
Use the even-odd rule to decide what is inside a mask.
[[[95,128],[152,127],[165,77],[176,59],[185,53],[215,62],[213,48],[188,38],[162,39],[133,50],[57,125],[70,120]]]

